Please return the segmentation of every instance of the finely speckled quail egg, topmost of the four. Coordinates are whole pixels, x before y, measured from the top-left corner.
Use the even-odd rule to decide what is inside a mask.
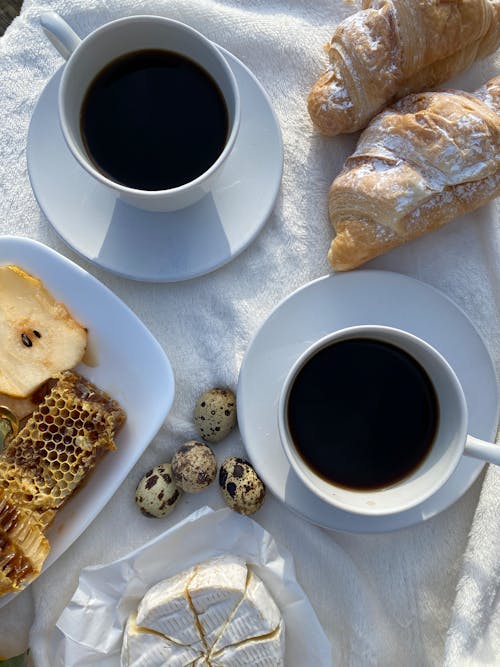
[[[236,424],[236,396],[231,389],[205,391],[194,409],[194,423],[207,442],[219,442]]]

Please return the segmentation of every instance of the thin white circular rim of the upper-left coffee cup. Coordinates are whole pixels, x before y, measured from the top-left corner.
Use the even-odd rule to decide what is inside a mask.
[[[179,31],[184,31],[185,33],[189,34],[191,37],[194,37],[199,41],[200,44],[202,44],[207,50],[211,52],[211,55],[215,57],[215,59],[218,61],[219,65],[222,67],[222,71],[224,74],[227,76],[228,82],[229,82],[229,88],[232,91],[232,94],[234,96],[234,113],[233,113],[233,119],[232,123],[230,120],[230,132],[228,134],[226,143],[224,145],[224,148],[217,158],[215,162],[210,165],[210,167],[204,171],[202,174],[200,174],[197,178],[188,181],[187,183],[183,183],[182,185],[179,185],[175,188],[166,188],[164,190],[141,190],[138,188],[132,188],[127,185],[124,185],[122,183],[119,183],[112,178],[108,178],[106,175],[101,173],[96,167],[94,167],[90,157],[84,153],[82,154],[81,148],[78,146],[78,144],[74,141],[73,134],[71,130],[69,129],[70,123],[68,122],[67,119],[67,108],[65,105],[65,95],[66,91],[69,85],[69,82],[71,80],[72,76],[72,71],[74,68],[75,63],[82,57],[82,54],[89,48],[92,48],[93,44],[97,40],[101,40],[106,33],[109,33],[112,30],[116,30],[117,27],[120,27],[121,25],[124,24],[133,24],[133,23],[141,23],[141,22],[149,22],[149,23],[163,23],[165,25],[173,26],[176,30]],[[147,47],[144,47],[147,48]],[[152,47],[155,48],[155,47]],[[165,50],[169,50],[167,47]],[[128,51],[124,51],[123,54],[127,53]],[[133,52],[133,49],[130,51]],[[119,58],[121,53],[117,53],[114,58]],[[195,60],[195,58],[186,55],[185,57],[191,58],[194,62],[196,62],[200,67],[205,69],[204,64],[199,61]],[[99,71],[101,71],[104,67],[106,67],[107,64],[112,62],[114,58],[103,62],[102,66],[100,69],[97,69],[94,72],[94,77],[97,76]],[[211,76],[211,73],[208,70],[207,73]],[[92,79],[91,79],[92,80]],[[216,82],[217,83],[217,82]],[[219,86],[220,87],[220,86]],[[222,92],[222,91],[221,91]],[[224,101],[226,103],[226,106],[228,106],[228,100],[226,98],[226,95],[222,92]],[[71,152],[73,153],[73,156],[78,160],[79,164],[88,172],[90,173],[94,178],[96,178],[98,181],[103,183],[104,185],[111,187],[118,192],[121,192],[125,195],[142,195],[142,196],[147,196],[150,199],[154,198],[161,198],[164,197],[167,194],[180,194],[185,191],[188,191],[192,189],[193,187],[197,185],[202,185],[204,181],[208,180],[222,165],[222,163],[226,160],[228,155],[230,154],[231,150],[233,149],[234,143],[236,141],[236,137],[238,135],[239,131],[239,125],[240,125],[240,95],[238,91],[238,84],[236,81],[236,77],[229,66],[227,60],[225,59],[224,55],[221,53],[220,49],[212,42],[210,41],[205,35],[203,35],[201,32],[196,30],[195,28],[192,28],[189,25],[186,25],[185,23],[182,23],[181,21],[177,21],[175,19],[170,19],[164,16],[156,16],[156,15],[149,15],[149,14],[140,14],[140,15],[133,15],[133,16],[126,16],[122,17],[119,19],[115,19],[113,21],[109,21],[108,23],[105,23],[99,27],[97,27],[95,30],[93,30],[91,33],[89,33],[86,37],[81,39],[80,43],[78,46],[70,53],[67,62],[64,66],[63,74],[61,77],[61,83],[59,86],[59,93],[58,93],[58,109],[59,109],[59,118],[60,118],[60,124],[61,124],[61,130],[64,135],[65,141],[67,145],[69,146]],[[229,108],[228,108],[229,111]]]

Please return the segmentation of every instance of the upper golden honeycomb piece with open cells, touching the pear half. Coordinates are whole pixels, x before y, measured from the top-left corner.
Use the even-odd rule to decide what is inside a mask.
[[[0,488],[45,528],[102,454],[116,449],[119,404],[73,371],[55,376],[35,412],[0,453]]]

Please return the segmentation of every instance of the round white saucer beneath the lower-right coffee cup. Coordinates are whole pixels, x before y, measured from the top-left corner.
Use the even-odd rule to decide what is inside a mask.
[[[498,424],[498,383],[491,356],[467,316],[446,296],[413,278],[386,271],[327,276],[275,308],[251,342],[238,380],[238,423],[248,456],[269,490],[304,518],[324,528],[376,533],[412,526],[438,514],[465,493],[484,464],[463,457],[432,498],[389,517],[363,517],[333,508],[302,484],[279,439],[281,384],[313,341],[356,324],[397,326],[439,350],[462,383],[469,432],[486,440],[495,436]]]

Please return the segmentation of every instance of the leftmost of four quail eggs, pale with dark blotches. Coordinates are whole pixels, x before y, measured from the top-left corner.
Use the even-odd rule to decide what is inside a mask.
[[[147,472],[135,490],[135,502],[143,514],[161,518],[174,509],[181,497],[170,463],[162,463]]]

